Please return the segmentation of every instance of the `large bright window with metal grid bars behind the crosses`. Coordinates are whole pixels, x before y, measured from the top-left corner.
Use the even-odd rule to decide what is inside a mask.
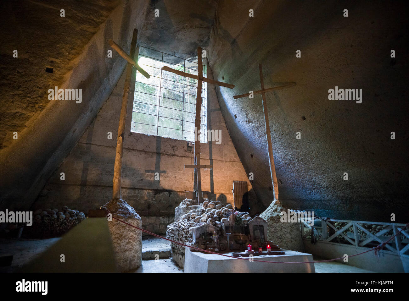
[[[198,74],[197,58],[180,58],[139,46],[138,64],[151,78],[136,74],[131,132],[194,141],[197,80],[168,71],[163,66]],[[207,66],[203,66],[206,76]],[[207,143],[207,83],[202,83],[200,142]]]

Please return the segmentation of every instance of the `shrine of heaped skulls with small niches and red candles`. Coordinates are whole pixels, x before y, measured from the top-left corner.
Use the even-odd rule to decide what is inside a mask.
[[[205,200],[180,219],[168,225],[169,238],[192,247],[233,256],[284,254],[267,241],[267,222],[248,212],[234,210],[231,204]],[[191,248],[192,252],[200,252]]]

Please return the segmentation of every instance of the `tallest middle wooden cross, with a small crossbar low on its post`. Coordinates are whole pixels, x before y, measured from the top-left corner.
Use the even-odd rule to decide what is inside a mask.
[[[202,82],[207,82],[212,85],[218,85],[222,87],[227,87],[230,89],[234,88],[234,85],[227,84],[225,82],[218,82],[217,80],[212,80],[210,78],[205,78],[203,77],[203,63],[202,63],[202,48],[198,47],[198,75],[193,75],[189,74],[186,72],[182,72],[179,70],[175,70],[172,68],[169,68],[168,66],[163,66],[162,70],[164,71],[169,71],[175,74],[178,74],[180,76],[185,76],[185,77],[190,77],[198,80],[198,92],[196,94],[196,116],[195,116],[195,128],[200,130],[200,109],[202,107]],[[202,180],[200,177],[200,169],[206,168],[206,169],[213,169],[213,165],[200,165],[200,134],[198,137],[196,137],[196,131],[195,131],[195,164],[189,165],[185,164],[184,168],[194,168],[195,173],[197,174],[197,182],[198,182],[198,187],[197,187],[197,192],[198,192],[198,202],[200,203],[202,201]],[[194,184],[193,184],[194,186]]]

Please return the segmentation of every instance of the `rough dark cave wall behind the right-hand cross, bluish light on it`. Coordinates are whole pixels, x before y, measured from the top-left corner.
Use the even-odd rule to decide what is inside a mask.
[[[261,89],[259,63],[266,88],[297,83],[266,94],[281,203],[339,219],[390,221],[392,213],[396,221],[409,219],[408,34],[402,26],[408,13],[402,5],[218,2],[209,61],[217,80],[236,85],[217,88],[220,107],[265,206],[273,192],[261,95],[232,97]],[[335,86],[362,89],[362,103],[328,100]]]

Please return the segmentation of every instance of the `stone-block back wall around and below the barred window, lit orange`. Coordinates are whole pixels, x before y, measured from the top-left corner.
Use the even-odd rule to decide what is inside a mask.
[[[97,117],[85,131],[79,143],[54,172],[33,206],[35,208],[67,205],[71,209],[88,212],[99,208],[112,198],[118,118],[121,107],[124,75],[103,105]],[[243,165],[231,142],[213,87],[208,88],[209,129],[221,129],[221,144],[202,143],[202,164],[213,159],[213,192],[217,198],[233,203],[233,181],[248,181]],[[132,103],[128,105],[124,159],[122,168],[122,198],[142,217],[142,226],[155,233],[166,233],[166,225],[173,222],[175,207],[185,198],[184,191],[193,190],[193,151],[187,151],[187,141],[148,136],[129,131]],[[112,140],[107,137],[112,132]],[[160,181],[154,174],[160,163]],[[65,181],[60,173],[65,173]],[[202,190],[211,191],[210,170],[202,171]],[[249,190],[252,189],[248,181]],[[254,194],[251,206],[257,207]],[[263,208],[256,210],[261,211]]]

